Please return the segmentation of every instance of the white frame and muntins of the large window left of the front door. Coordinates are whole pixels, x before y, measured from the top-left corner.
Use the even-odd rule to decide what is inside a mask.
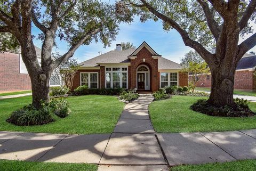
[[[110,71],[107,71],[107,68],[111,68]],[[113,68],[120,68],[119,71],[113,71]],[[122,71],[122,68],[126,68],[126,71]],[[113,88],[113,73],[117,72],[117,73],[121,73],[120,74],[120,88],[123,88],[123,73],[126,73],[126,89],[128,89],[128,67],[127,66],[105,66],[105,88],[107,88],[107,80],[106,80],[106,74],[110,73],[110,88]],[[115,82],[117,83],[117,82]]]

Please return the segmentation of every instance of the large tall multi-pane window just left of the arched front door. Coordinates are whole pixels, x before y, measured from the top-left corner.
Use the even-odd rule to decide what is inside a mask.
[[[128,88],[127,67],[106,67],[106,88]]]

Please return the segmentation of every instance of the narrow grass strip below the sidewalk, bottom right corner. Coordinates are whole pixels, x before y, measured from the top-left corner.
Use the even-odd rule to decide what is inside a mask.
[[[251,171],[256,170],[256,160],[216,162],[203,165],[184,165],[170,168],[171,171]]]

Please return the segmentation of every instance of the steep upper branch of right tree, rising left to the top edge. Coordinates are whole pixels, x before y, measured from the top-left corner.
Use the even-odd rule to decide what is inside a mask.
[[[217,21],[215,21],[214,19],[214,13],[212,12],[212,10],[210,10],[210,7],[206,2],[202,0],[197,0],[197,2],[202,6],[205,13],[206,20],[207,20],[207,25],[217,42],[220,35],[220,26],[218,25]]]

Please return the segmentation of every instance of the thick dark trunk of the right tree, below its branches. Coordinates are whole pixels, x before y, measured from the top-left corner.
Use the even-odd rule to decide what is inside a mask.
[[[208,102],[217,107],[225,105],[235,107],[233,99],[235,69],[228,70],[224,66],[211,68],[211,75],[212,86]]]

